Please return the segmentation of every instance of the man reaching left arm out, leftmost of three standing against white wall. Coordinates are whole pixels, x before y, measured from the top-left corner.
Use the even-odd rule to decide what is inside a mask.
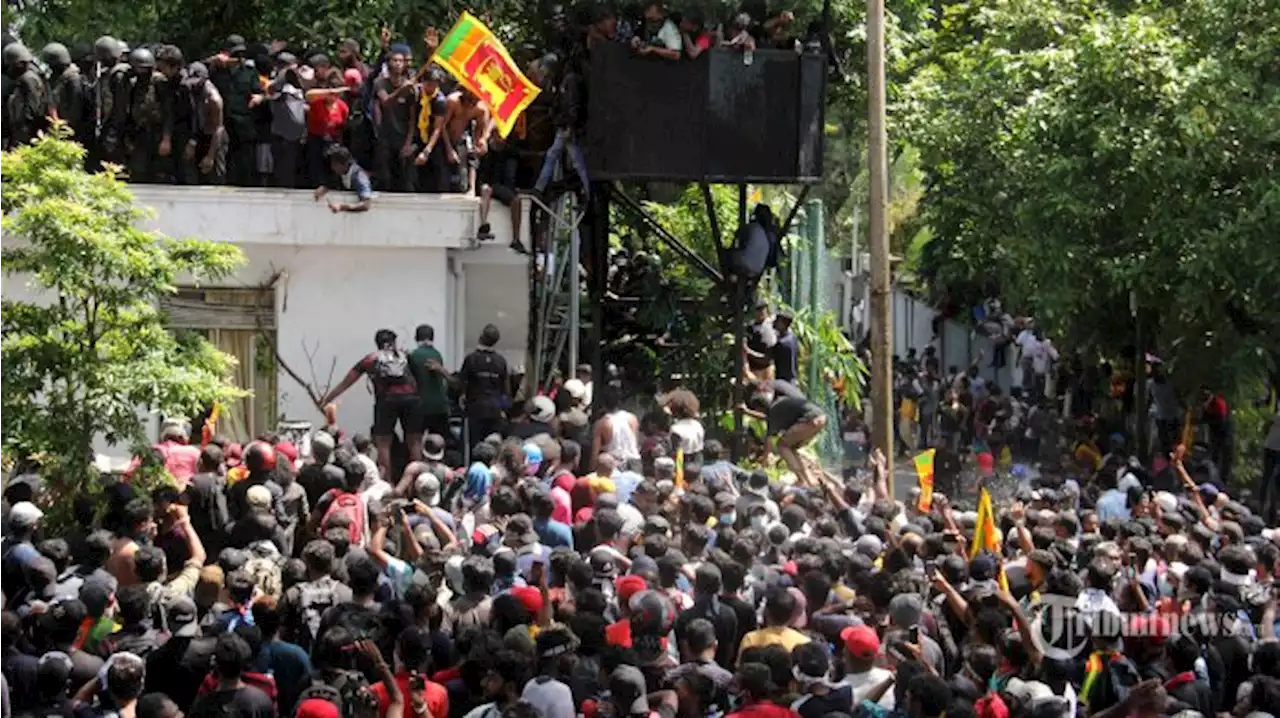
[[[369,376],[374,383],[374,445],[378,447],[378,470],[383,477],[390,476],[392,439],[399,424],[408,445],[410,461],[422,459],[422,412],[417,397],[417,383],[410,366],[410,356],[396,344],[396,333],[379,329],[374,334],[378,347],[351,367],[342,383],[329,390],[319,404],[326,406],[360,380]]]

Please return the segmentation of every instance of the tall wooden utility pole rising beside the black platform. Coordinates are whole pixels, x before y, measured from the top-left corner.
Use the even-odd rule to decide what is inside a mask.
[[[872,255],[872,444],[888,462],[893,493],[893,316],[888,260],[888,133],[884,129],[884,0],[867,0],[867,100],[870,138],[868,250]]]

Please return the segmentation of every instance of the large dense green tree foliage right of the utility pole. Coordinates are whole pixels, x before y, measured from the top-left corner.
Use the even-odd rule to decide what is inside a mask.
[[[1276,348],[1277,28],[1256,0],[946,8],[897,108],[936,288],[998,293],[1103,353],[1133,342],[1133,294],[1184,389],[1257,366]]]

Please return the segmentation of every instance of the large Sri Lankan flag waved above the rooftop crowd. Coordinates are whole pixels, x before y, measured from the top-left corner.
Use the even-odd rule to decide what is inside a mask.
[[[498,134],[507,137],[516,118],[538,97],[538,86],[529,82],[507,49],[471,13],[462,13],[444,36],[431,61],[447,69],[463,87],[489,106]]]

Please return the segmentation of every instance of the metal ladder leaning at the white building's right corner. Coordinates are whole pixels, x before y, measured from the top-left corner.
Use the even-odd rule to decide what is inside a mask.
[[[548,241],[536,250],[536,333],[532,387],[545,392],[561,376],[561,358],[568,352],[568,376],[579,362],[581,337],[581,250],[579,225],[585,212],[573,192],[562,192],[552,206],[530,198],[549,218]]]

